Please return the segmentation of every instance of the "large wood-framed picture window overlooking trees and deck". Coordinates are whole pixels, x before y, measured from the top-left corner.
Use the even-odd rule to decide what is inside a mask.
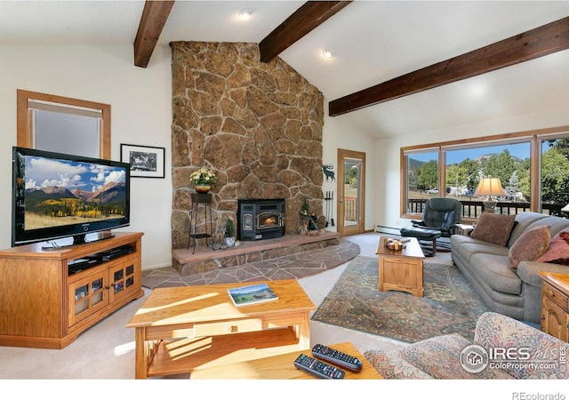
[[[429,197],[461,201],[462,218],[475,220],[485,198],[474,196],[481,178],[500,178],[507,196],[496,212],[537,211],[569,217],[569,126],[540,132],[457,140],[402,148],[403,217],[417,218]]]

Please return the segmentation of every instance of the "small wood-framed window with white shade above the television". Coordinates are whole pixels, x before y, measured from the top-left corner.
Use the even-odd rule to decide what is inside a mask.
[[[18,146],[110,159],[110,106],[18,90]]]

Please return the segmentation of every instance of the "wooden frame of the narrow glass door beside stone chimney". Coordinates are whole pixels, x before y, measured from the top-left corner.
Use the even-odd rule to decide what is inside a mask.
[[[354,158],[357,160],[362,160],[362,171],[360,171],[359,177],[359,187],[358,187],[358,196],[359,196],[359,208],[358,208],[358,216],[359,220],[357,224],[353,227],[346,228],[344,227],[344,159],[345,158]],[[336,215],[336,226],[338,233],[340,236],[349,236],[349,235],[357,235],[360,233],[364,233],[365,231],[365,153],[356,150],[348,150],[344,148],[338,148],[338,157],[337,157],[337,164],[338,164],[338,178],[336,179],[336,186],[337,186],[337,200],[336,200],[336,210],[338,214]]]

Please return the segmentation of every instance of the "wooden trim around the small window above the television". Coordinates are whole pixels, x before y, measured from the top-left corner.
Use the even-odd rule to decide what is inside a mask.
[[[42,100],[68,106],[98,109],[102,113],[99,154],[100,158],[110,160],[110,105],[89,100],[78,100],[70,97],[56,96],[39,92],[18,89],[16,94],[16,143],[21,148],[34,147],[31,113],[28,100]]]

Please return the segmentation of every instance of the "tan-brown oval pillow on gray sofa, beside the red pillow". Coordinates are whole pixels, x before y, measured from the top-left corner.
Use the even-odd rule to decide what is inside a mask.
[[[522,261],[535,261],[548,250],[551,241],[549,225],[527,229],[509,248],[509,268],[517,269]]]

